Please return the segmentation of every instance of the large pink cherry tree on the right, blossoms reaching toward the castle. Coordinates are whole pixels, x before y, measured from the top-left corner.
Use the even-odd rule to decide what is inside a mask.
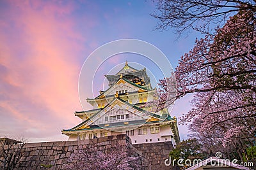
[[[242,10],[214,34],[196,39],[179,60],[175,76],[160,81],[159,96],[164,100],[169,95],[166,89],[176,78],[175,99],[194,94],[193,108],[181,124],[190,124],[192,134],[205,144],[235,149],[241,158],[256,140],[256,10],[243,3],[237,8]]]

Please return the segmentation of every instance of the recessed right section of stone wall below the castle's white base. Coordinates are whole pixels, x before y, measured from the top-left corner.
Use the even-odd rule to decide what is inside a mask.
[[[141,143],[132,145],[145,156],[152,167],[152,169],[177,169],[177,167],[166,166],[165,159],[169,159],[169,153],[173,150],[171,141],[159,143]]]

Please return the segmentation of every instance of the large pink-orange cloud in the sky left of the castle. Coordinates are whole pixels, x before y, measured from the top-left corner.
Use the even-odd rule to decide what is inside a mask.
[[[78,124],[72,112],[81,110],[77,81],[86,39],[74,30],[70,17],[76,5],[12,1],[8,7],[0,22],[0,117],[15,121],[22,131],[6,124],[0,129],[32,140],[56,134],[66,139],[60,130]]]

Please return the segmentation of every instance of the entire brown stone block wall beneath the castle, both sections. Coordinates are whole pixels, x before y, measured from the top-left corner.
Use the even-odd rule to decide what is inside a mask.
[[[164,160],[168,159],[169,152],[173,149],[172,142],[131,145],[131,139],[126,134],[83,141],[27,143],[22,149],[23,156],[16,169],[67,169],[68,159],[79,148],[95,146],[110,148],[116,143],[129,146],[134,156],[140,156],[143,169],[175,169],[164,165]]]

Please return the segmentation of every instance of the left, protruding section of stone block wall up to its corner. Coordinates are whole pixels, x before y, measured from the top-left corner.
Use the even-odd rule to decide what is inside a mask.
[[[23,157],[20,159],[19,167],[16,169],[67,169],[70,155],[76,153],[78,148],[85,148],[84,146],[95,147],[95,145],[111,148],[111,145],[116,145],[116,143],[121,146],[130,146],[133,151],[132,155],[141,156],[140,162],[145,167],[143,169],[150,169],[148,160],[131,145],[131,139],[126,134],[83,141],[27,143],[22,149]]]

